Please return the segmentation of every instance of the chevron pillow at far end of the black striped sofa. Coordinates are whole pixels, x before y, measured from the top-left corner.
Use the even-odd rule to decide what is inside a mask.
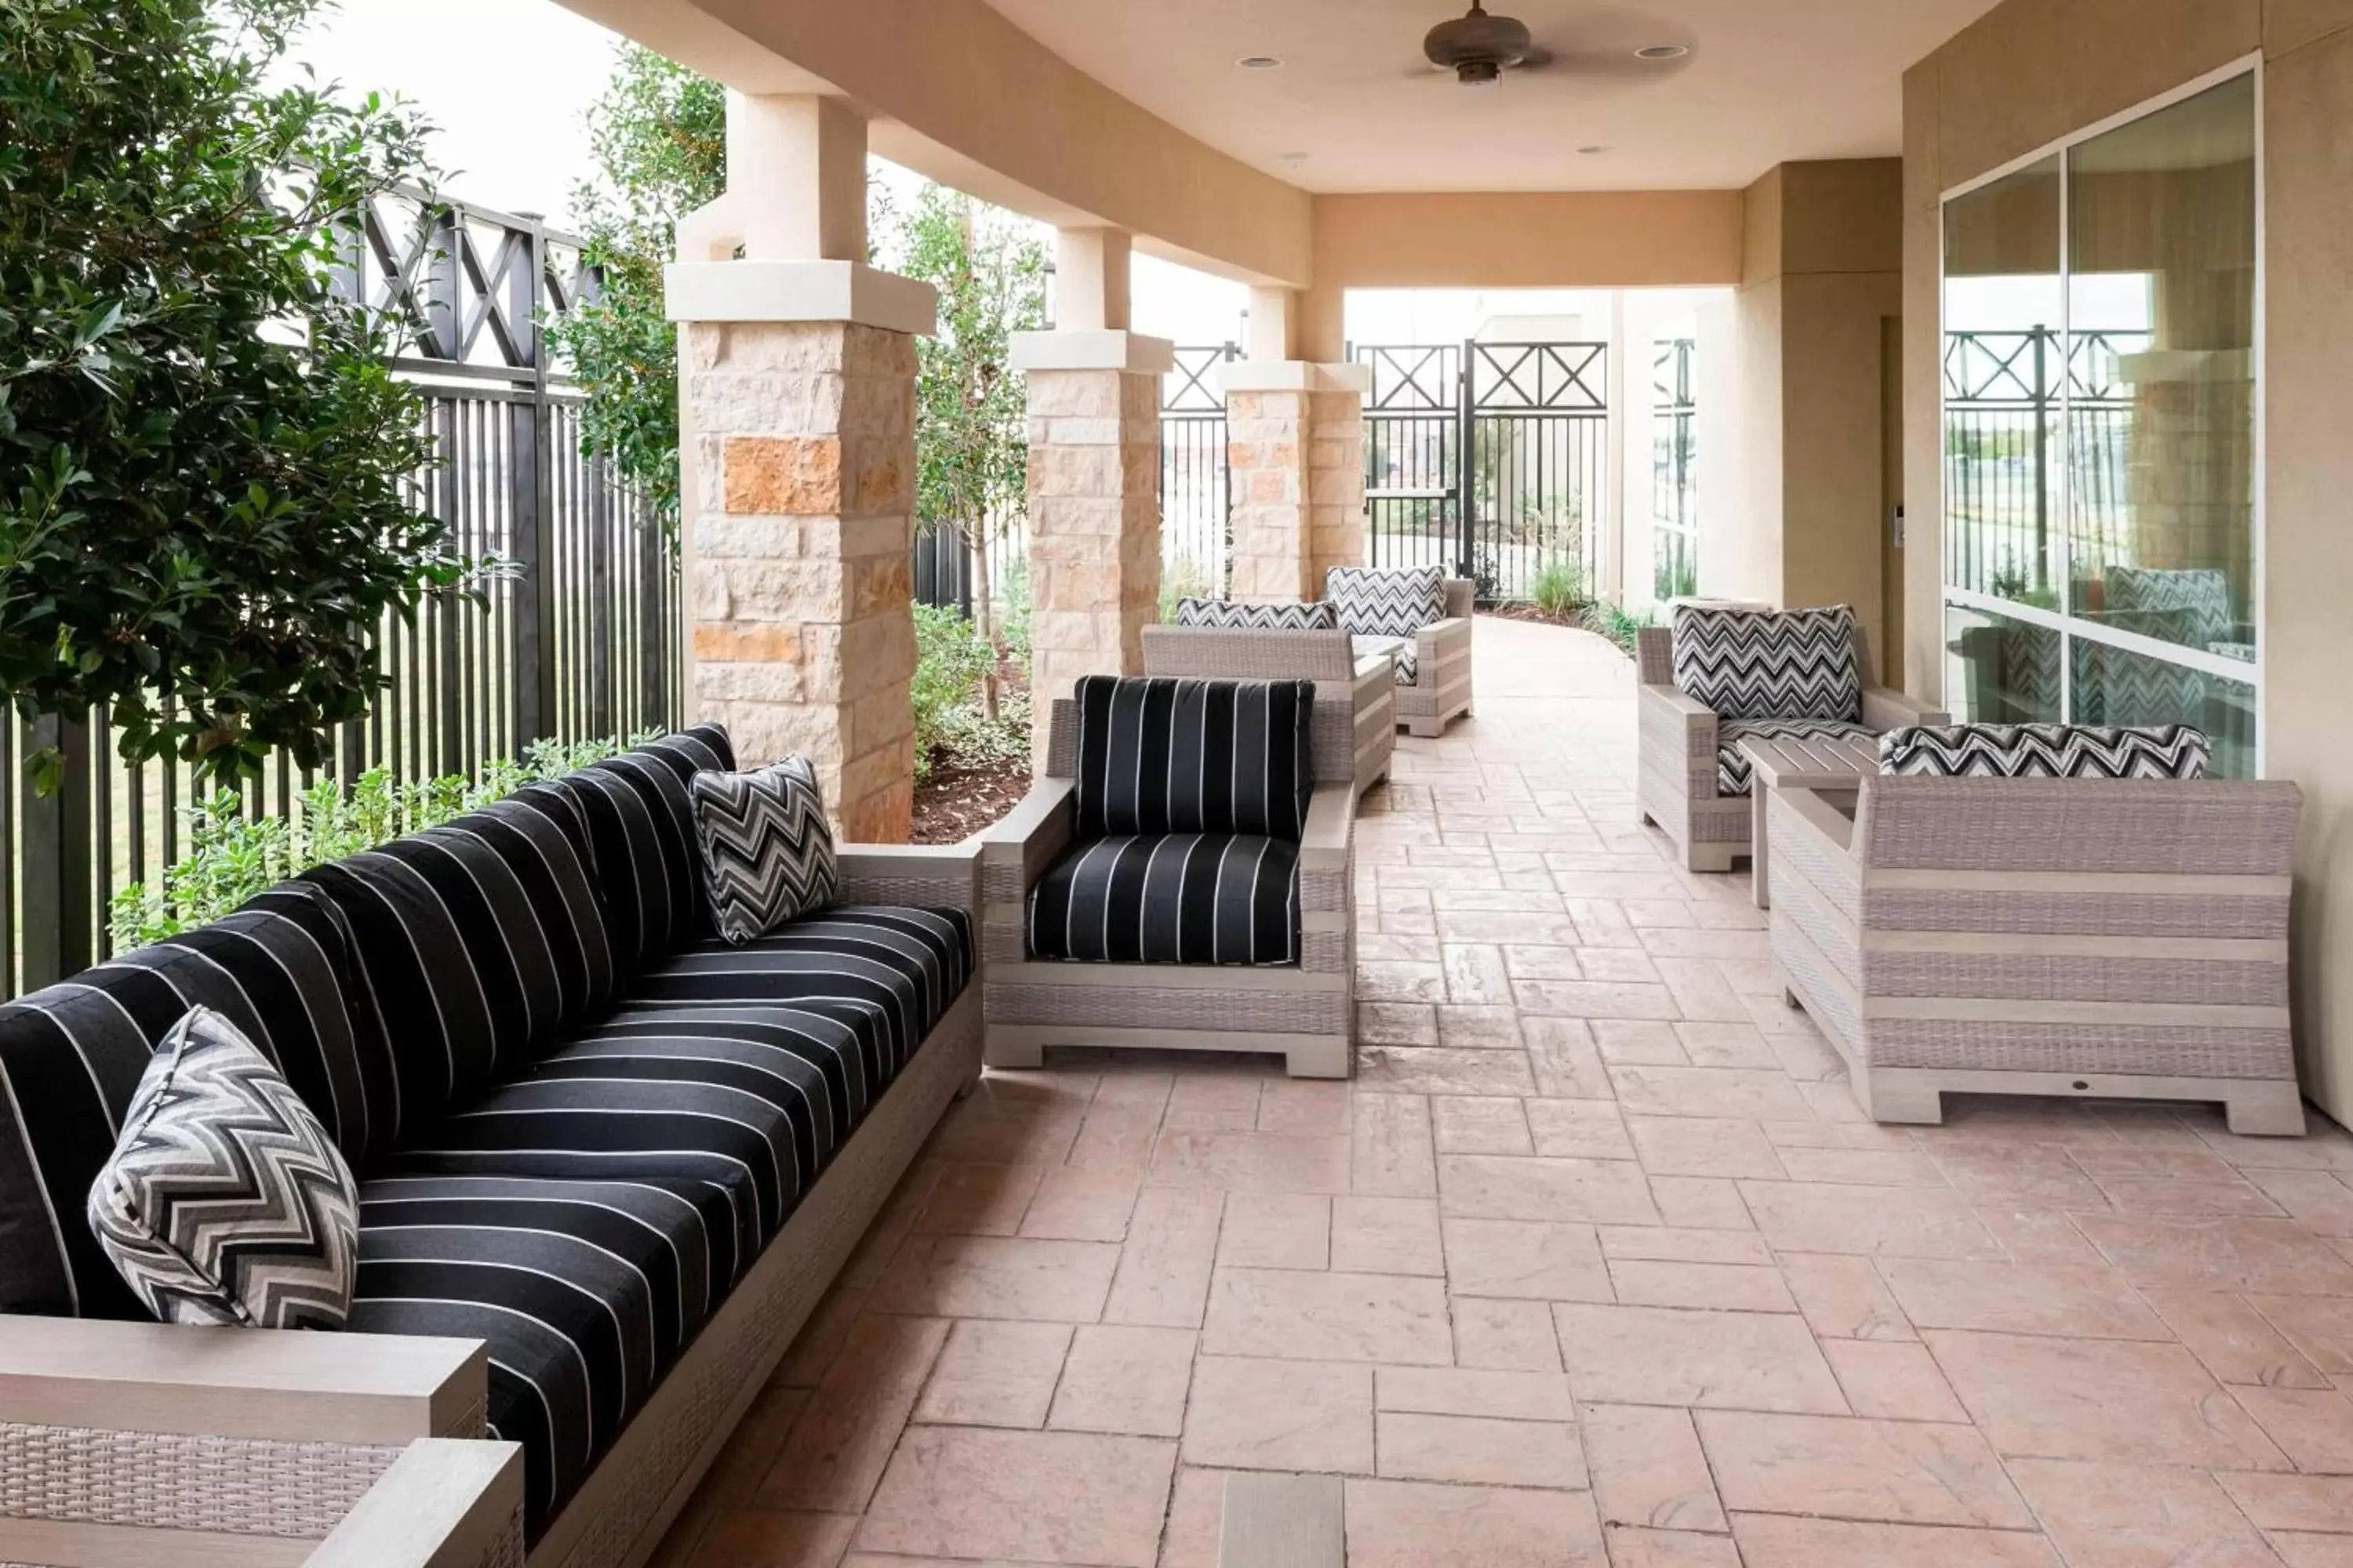
[[[720,936],[741,947],[840,896],[833,827],[807,757],[694,776],[694,832]]]

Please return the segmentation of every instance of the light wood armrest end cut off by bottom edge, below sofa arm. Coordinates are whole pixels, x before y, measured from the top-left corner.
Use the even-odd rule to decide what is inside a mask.
[[[424,1439],[344,1514],[304,1568],[489,1568],[522,1561],[522,1448]]]

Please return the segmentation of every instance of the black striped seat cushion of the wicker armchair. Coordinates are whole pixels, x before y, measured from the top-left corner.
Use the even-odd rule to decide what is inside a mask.
[[[1297,964],[1299,846],[1198,832],[1080,844],[1031,891],[1028,947],[1096,964]]]

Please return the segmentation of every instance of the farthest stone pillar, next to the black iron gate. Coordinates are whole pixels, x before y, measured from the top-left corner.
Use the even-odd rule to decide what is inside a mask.
[[[1224,367],[1233,496],[1233,597],[1322,597],[1325,571],[1365,564],[1360,364],[1240,360]]]

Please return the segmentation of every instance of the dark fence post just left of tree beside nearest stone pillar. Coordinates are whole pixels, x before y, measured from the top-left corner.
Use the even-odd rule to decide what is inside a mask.
[[[522,214],[529,233],[525,268],[506,270],[506,322],[515,334],[520,369],[532,371],[525,397],[506,404],[508,470],[506,505],[508,545],[522,571],[515,595],[515,750],[555,733],[555,581],[548,548],[553,515],[555,454],[548,442],[548,355],[541,346],[539,315],[548,289],[548,228],[539,214]]]

